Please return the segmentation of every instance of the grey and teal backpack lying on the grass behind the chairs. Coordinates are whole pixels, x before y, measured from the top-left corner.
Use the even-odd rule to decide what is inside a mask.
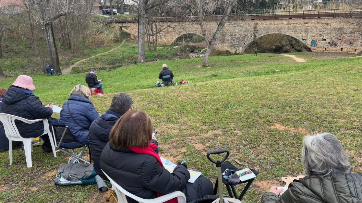
[[[54,185],[79,185],[96,183],[97,173],[93,164],[62,164],[55,175]]]

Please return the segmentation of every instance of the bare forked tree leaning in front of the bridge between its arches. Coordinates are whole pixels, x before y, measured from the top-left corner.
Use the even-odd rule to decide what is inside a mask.
[[[212,49],[214,48],[215,42],[219,38],[219,34],[222,31],[222,29],[225,25],[225,22],[227,21],[227,18],[231,12],[231,9],[233,8],[233,5],[236,3],[237,0],[226,0],[226,1],[221,1],[219,3],[214,2],[214,1],[211,2],[209,0],[203,0],[202,4],[200,3],[200,0],[191,0],[191,1],[193,1],[193,9],[195,11],[198,23],[200,25],[202,35],[205,38],[205,41],[207,43],[205,57],[202,61],[202,65],[207,66],[207,65],[209,65],[209,57],[210,57]],[[215,9],[217,5],[219,5],[218,7],[220,10],[222,10],[222,8],[224,10],[222,12],[220,21],[216,27],[216,30],[210,38],[210,36],[207,35],[207,31],[205,28],[204,15],[206,15],[206,14],[212,15],[212,14],[217,13],[218,10]]]

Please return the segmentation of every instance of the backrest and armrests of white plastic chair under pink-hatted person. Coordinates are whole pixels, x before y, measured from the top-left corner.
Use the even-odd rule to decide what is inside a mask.
[[[14,137],[14,138],[22,138],[20,136],[20,133],[18,131],[18,128],[15,125],[15,120],[19,120],[22,122],[25,122],[27,124],[33,124],[39,121],[43,121],[43,123],[45,123],[45,118],[44,119],[36,119],[36,120],[28,120],[22,117],[18,117],[18,116],[14,116],[14,115],[10,115],[7,113],[0,113],[0,121],[3,123],[4,126],[4,130],[5,130],[5,135],[10,138],[10,137]],[[46,120],[47,122],[47,120]],[[49,132],[49,125],[44,125],[45,130],[48,130]],[[34,136],[36,137],[36,136]]]

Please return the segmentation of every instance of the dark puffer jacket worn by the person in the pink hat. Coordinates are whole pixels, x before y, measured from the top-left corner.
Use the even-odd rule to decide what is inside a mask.
[[[49,118],[53,110],[45,107],[32,92],[17,87],[9,87],[1,103],[1,113],[35,120],[38,118]],[[24,138],[38,137],[44,133],[43,122],[26,124],[22,121],[15,121],[15,123],[20,135]]]

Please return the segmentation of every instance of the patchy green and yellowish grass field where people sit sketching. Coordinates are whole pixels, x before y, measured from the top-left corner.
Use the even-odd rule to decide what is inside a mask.
[[[295,63],[275,54],[161,60],[98,72],[105,95],[92,96],[104,113],[117,92],[131,94],[134,109],[147,111],[159,134],[160,156],[187,160],[190,169],[215,181],[216,168],[206,158],[211,150],[227,148],[239,168],[260,171],[244,202],[260,202],[280,177],[302,173],[300,147],[304,135],[330,132],[351,155],[355,173],[362,172],[361,115],[362,59],[326,59]],[[154,87],[161,66],[168,64],[175,81],[186,85]],[[47,77],[31,75],[35,95],[44,104],[62,105],[69,91],[84,84],[85,74]],[[15,77],[4,78],[8,87]],[[33,167],[26,168],[24,151],[14,149],[13,165],[8,151],[0,152],[0,199],[2,202],[105,202],[108,193],[96,185],[55,186],[56,169],[67,161],[35,147]],[[237,165],[237,164],[236,164]],[[238,186],[240,191],[243,186]]]

